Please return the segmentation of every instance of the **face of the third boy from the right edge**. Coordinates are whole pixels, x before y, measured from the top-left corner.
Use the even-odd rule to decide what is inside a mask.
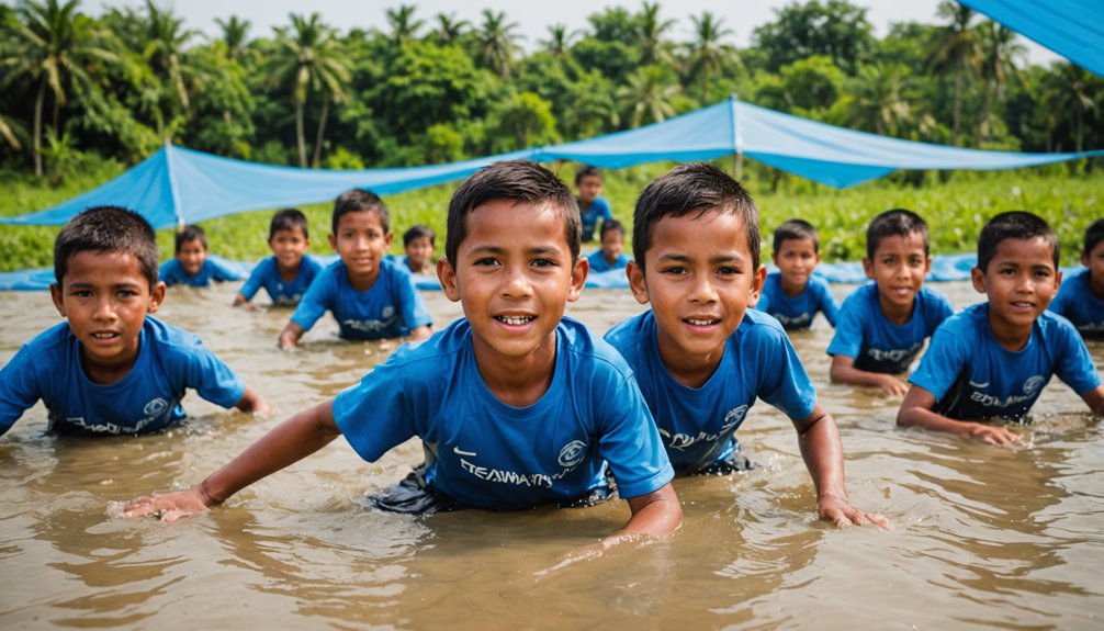
[[[878,284],[882,306],[912,309],[916,293],[924,285],[924,277],[932,268],[932,259],[924,249],[924,236],[909,233],[905,236],[883,237],[874,250],[873,260],[862,259],[867,278]]]

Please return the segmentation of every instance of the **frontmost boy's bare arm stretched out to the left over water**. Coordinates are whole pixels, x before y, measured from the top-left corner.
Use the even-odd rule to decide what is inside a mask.
[[[131,500],[126,517],[156,515],[174,522],[216,506],[245,486],[329,445],[341,435],[333,421],[333,399],[300,411],[254,442],[241,456],[187,491],[155,493]]]

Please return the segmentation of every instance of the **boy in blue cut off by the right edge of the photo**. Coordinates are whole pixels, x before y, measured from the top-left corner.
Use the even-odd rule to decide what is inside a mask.
[[[1089,269],[1065,279],[1050,310],[1073,322],[1085,338],[1104,338],[1104,220],[1085,231],[1081,265]]]

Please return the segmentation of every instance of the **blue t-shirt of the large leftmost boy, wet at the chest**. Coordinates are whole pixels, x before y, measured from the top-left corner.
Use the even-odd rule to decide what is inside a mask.
[[[195,335],[146,317],[138,357],[110,385],[84,374],[81,342],[61,322],[24,344],[0,370],[0,434],[39,399],[52,430],[75,434],[147,434],[184,418],[180,400],[193,388],[206,400],[233,407],[245,382]]]

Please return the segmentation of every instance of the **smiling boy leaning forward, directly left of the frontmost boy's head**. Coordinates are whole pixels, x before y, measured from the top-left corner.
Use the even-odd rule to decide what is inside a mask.
[[[384,257],[391,247],[391,215],[371,191],[346,191],[333,202],[330,246],[341,260],[310,285],[279,335],[282,349],[299,338],[327,311],[346,340],[429,336],[432,319],[408,271]]]

